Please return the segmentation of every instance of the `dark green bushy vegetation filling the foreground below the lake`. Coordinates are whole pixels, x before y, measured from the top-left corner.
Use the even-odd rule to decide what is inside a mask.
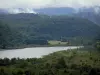
[[[59,51],[43,58],[0,59],[0,75],[100,75],[100,52]]]

